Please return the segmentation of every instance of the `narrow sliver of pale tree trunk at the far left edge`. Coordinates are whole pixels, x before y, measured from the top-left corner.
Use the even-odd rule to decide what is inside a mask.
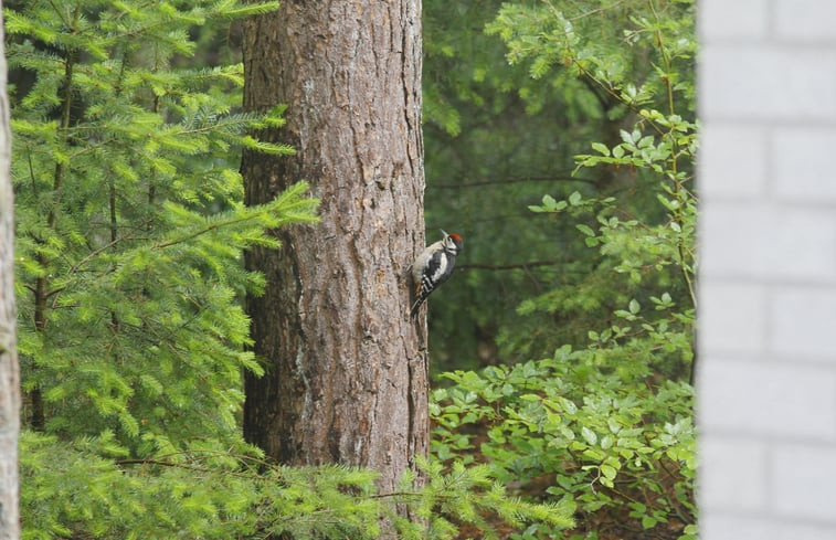
[[[2,2],[0,2],[2,8]],[[1,12],[2,10],[0,10]],[[14,222],[11,187],[11,133],[6,94],[6,53],[0,15],[0,540],[20,538],[18,433],[20,371],[15,338]]]

